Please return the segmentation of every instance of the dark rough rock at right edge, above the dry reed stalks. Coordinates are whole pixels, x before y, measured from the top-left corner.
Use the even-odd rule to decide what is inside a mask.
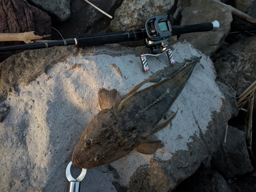
[[[241,95],[256,80],[256,36],[236,42],[215,55],[217,79]],[[255,104],[255,99],[254,99]]]

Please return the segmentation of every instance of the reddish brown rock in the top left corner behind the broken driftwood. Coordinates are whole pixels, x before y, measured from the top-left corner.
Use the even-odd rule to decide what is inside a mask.
[[[39,35],[51,34],[51,17],[22,0],[2,0],[0,4],[0,33],[36,31]],[[0,42],[0,46],[23,44],[23,42]],[[8,54],[0,54],[0,62]]]

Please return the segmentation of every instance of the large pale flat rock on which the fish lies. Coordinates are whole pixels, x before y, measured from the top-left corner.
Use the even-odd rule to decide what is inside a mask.
[[[26,85],[22,80],[15,81],[10,85],[14,87],[12,91],[7,91],[4,104],[10,111],[0,124],[0,190],[67,191],[65,170],[81,133],[100,110],[99,89],[115,88],[124,95],[152,73],[166,76],[168,71],[178,70],[200,56],[170,108],[170,112],[179,108],[172,125],[155,134],[164,147],[154,155],[132,152],[110,165],[88,169],[80,191],[172,190],[217,150],[225,123],[237,113],[237,106],[229,89],[223,84],[220,88],[215,82],[216,72],[209,57],[186,42],[178,43],[173,46],[176,65],[168,67],[166,55],[148,57],[151,71],[143,73],[140,52],[136,50],[118,45],[85,50],[51,48],[26,51],[2,63],[12,63],[13,73],[15,59],[17,63],[23,59],[25,66],[36,59],[31,74],[41,66],[48,67],[41,67],[38,77],[24,80]],[[56,56],[57,51],[61,59]],[[51,58],[50,63],[47,58]],[[51,65],[53,58],[55,65]],[[120,68],[122,76],[111,64]],[[2,69],[2,74],[7,72]],[[1,78],[7,90],[11,77]],[[74,175],[79,172],[74,170]]]

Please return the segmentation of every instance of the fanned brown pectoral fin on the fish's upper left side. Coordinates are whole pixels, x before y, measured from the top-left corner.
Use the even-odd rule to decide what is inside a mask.
[[[110,91],[102,89],[98,93],[98,99],[100,109],[103,110],[112,109],[121,100],[121,97],[115,89]]]

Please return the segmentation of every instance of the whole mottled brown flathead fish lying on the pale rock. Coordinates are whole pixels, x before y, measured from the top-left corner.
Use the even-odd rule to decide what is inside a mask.
[[[111,163],[133,150],[154,154],[161,140],[147,139],[166,127],[176,113],[160,122],[183,90],[196,63],[195,61],[143,90],[137,91],[147,79],[132,88],[124,97],[117,90],[102,89],[98,93],[101,111],[92,118],[72,154],[73,165],[93,168]]]

